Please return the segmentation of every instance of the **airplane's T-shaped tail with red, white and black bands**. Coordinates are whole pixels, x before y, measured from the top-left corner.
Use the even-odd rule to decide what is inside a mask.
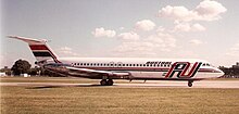
[[[56,54],[48,46],[46,39],[38,40],[38,39],[25,38],[25,37],[18,37],[18,36],[9,36],[9,38],[14,38],[14,39],[18,39],[18,40],[27,42],[30,50],[34,53],[34,56],[37,60],[36,64],[38,65],[47,62],[47,60],[49,59],[53,59],[55,63],[61,63],[58,60]]]

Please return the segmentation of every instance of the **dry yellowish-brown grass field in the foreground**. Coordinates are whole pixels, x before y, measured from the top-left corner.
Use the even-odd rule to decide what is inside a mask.
[[[28,79],[32,81],[33,78],[25,78]],[[49,79],[59,80],[59,78]],[[65,78],[65,81],[67,79],[71,81],[72,78]],[[63,79],[60,78],[59,81]],[[238,112],[239,89],[1,86],[1,114],[237,114]]]

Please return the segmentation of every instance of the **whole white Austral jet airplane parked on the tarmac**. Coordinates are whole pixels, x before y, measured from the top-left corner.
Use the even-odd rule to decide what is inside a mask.
[[[59,74],[101,79],[101,86],[112,86],[113,79],[185,80],[192,87],[194,80],[218,78],[224,72],[199,59],[154,58],[59,58],[46,39],[9,36],[27,42],[35,64]]]

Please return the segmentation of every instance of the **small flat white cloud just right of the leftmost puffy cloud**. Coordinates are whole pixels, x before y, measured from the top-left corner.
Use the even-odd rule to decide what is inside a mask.
[[[123,34],[118,35],[118,38],[123,39],[123,40],[138,40],[139,39],[139,35],[134,33],[134,31],[123,33]]]

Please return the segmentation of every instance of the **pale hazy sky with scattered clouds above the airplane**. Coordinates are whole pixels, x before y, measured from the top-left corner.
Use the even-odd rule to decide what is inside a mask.
[[[1,64],[35,62],[8,35],[48,39],[59,56],[239,61],[238,0],[1,0]]]

